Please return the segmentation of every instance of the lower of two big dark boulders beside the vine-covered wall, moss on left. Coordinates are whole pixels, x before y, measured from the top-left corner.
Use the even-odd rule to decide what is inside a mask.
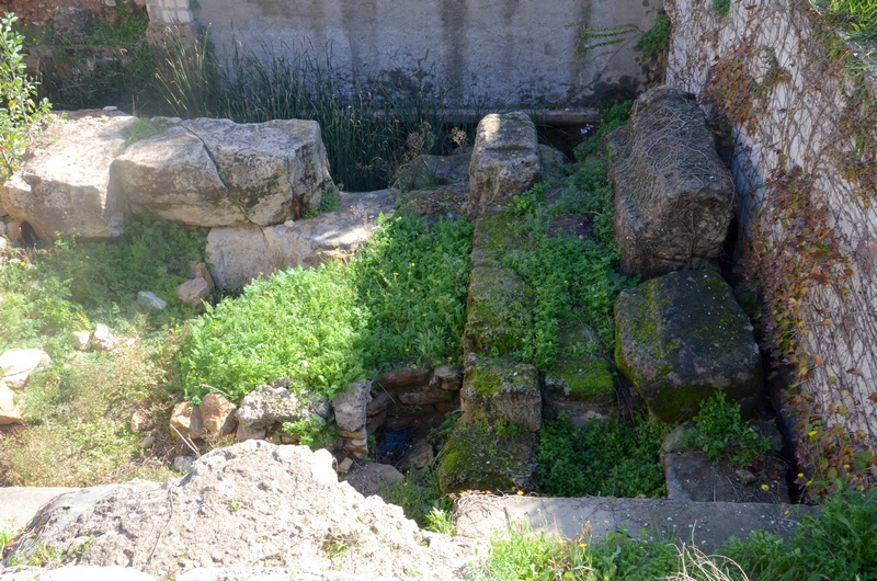
[[[665,422],[692,418],[717,391],[754,410],[762,366],[753,328],[711,271],[683,271],[622,292],[615,303],[615,362]]]

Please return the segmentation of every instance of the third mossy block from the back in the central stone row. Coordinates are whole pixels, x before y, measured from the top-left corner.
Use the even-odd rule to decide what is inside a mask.
[[[520,356],[533,326],[533,289],[511,269],[476,266],[469,274],[466,355]]]

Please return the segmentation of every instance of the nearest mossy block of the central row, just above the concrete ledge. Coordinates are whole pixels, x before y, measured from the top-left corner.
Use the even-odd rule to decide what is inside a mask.
[[[498,434],[486,422],[457,424],[438,458],[438,487],[447,494],[460,490],[510,492],[533,489],[536,434]]]

